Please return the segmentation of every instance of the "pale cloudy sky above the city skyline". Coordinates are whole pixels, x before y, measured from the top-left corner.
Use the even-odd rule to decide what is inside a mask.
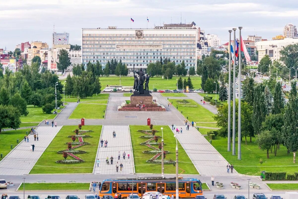
[[[82,28],[153,28],[180,21],[194,21],[206,34],[217,34],[222,44],[228,42],[228,30],[239,26],[244,39],[257,35],[270,40],[283,34],[285,24],[298,26],[298,4],[297,0],[1,1],[0,48],[13,51],[26,41],[47,42],[51,47],[54,24],[55,32],[70,34],[70,44],[81,44]]]

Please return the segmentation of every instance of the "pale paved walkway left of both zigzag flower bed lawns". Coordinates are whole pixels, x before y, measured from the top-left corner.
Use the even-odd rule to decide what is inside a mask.
[[[33,135],[29,135],[29,142],[24,139],[0,162],[0,175],[27,175],[42,153],[55,138],[61,127],[38,127],[39,141],[34,141]],[[30,146],[34,144],[34,152]]]

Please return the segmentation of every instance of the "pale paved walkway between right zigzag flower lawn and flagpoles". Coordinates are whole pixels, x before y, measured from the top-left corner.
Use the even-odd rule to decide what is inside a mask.
[[[222,176],[227,175],[226,165],[228,162],[221,156],[220,153],[197,131],[195,127],[190,127],[187,131],[185,126],[182,128],[182,134],[176,134],[180,144],[193,161],[195,167],[201,175]],[[234,175],[237,172],[233,172]]]

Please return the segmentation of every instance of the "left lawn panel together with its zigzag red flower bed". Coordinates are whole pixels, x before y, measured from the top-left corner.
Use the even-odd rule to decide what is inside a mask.
[[[77,128],[78,126],[63,126],[38,159],[30,174],[92,173],[102,126],[83,126],[76,135],[73,130]],[[75,141],[72,141],[73,135],[75,135]],[[69,142],[72,146],[70,150]],[[57,160],[63,160],[63,152],[68,153],[66,162],[56,163]]]

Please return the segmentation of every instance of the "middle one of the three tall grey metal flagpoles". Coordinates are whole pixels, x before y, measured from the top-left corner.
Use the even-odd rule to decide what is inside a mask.
[[[232,143],[232,155],[236,155],[236,146],[235,146],[235,132],[236,132],[236,108],[235,108],[235,79],[236,79],[236,28],[234,30],[234,65],[233,65],[233,143]]]

